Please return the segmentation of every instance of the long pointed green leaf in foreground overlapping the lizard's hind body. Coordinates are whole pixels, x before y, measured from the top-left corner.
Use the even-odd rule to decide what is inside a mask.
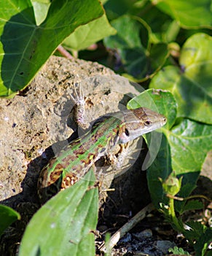
[[[21,255],[95,255],[98,188],[93,171],[52,197],[25,230]]]

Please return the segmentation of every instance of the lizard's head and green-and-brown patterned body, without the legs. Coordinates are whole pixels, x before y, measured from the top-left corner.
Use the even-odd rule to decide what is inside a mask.
[[[166,118],[147,108],[125,110],[98,118],[92,129],[63,148],[42,169],[38,181],[41,203],[73,185],[116,144],[127,143],[162,127]],[[98,173],[95,173],[98,177]],[[97,178],[98,179],[98,178]]]

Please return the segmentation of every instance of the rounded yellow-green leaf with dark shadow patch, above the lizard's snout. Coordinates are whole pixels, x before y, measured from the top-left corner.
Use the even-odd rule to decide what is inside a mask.
[[[212,124],[211,59],[211,37],[195,34],[182,48],[180,65],[183,72],[178,67],[164,67],[149,87],[171,91],[178,103],[178,116]]]

